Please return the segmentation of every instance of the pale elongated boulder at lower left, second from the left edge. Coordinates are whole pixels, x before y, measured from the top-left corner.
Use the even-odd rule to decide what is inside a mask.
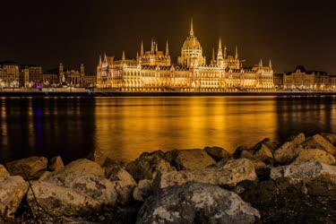
[[[35,214],[41,212],[39,206],[54,216],[90,215],[100,209],[100,203],[94,198],[65,186],[36,182],[32,189],[27,194],[27,202]]]

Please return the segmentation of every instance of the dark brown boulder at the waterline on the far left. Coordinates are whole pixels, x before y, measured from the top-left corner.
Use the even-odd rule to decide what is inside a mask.
[[[18,175],[24,179],[38,179],[47,169],[47,158],[30,157],[13,160],[6,164],[6,168],[12,176]]]

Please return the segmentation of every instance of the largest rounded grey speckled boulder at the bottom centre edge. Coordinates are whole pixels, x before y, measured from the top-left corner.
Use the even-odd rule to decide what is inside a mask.
[[[257,210],[216,185],[188,183],[151,196],[136,223],[254,223]]]

